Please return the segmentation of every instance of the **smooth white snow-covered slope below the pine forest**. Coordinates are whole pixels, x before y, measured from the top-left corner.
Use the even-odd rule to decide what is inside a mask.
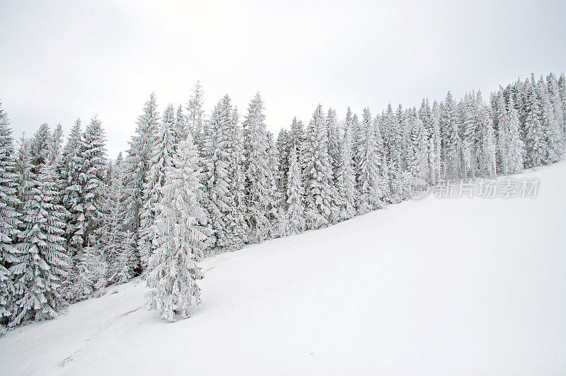
[[[566,374],[566,163],[536,199],[391,205],[202,262],[173,324],[143,281],[0,338],[0,374]]]

